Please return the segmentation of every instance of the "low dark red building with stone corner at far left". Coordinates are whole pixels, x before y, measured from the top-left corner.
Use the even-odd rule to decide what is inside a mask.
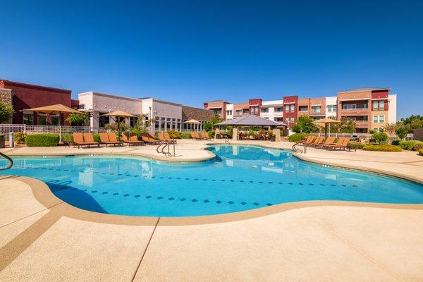
[[[26,125],[57,125],[59,116],[51,116],[25,111],[25,109],[39,106],[63,104],[65,106],[78,106],[78,100],[71,99],[71,90],[53,87],[31,85],[22,82],[0,80],[0,89],[11,90],[13,117],[12,123]],[[68,125],[65,121],[67,115],[61,116],[61,124]]]

